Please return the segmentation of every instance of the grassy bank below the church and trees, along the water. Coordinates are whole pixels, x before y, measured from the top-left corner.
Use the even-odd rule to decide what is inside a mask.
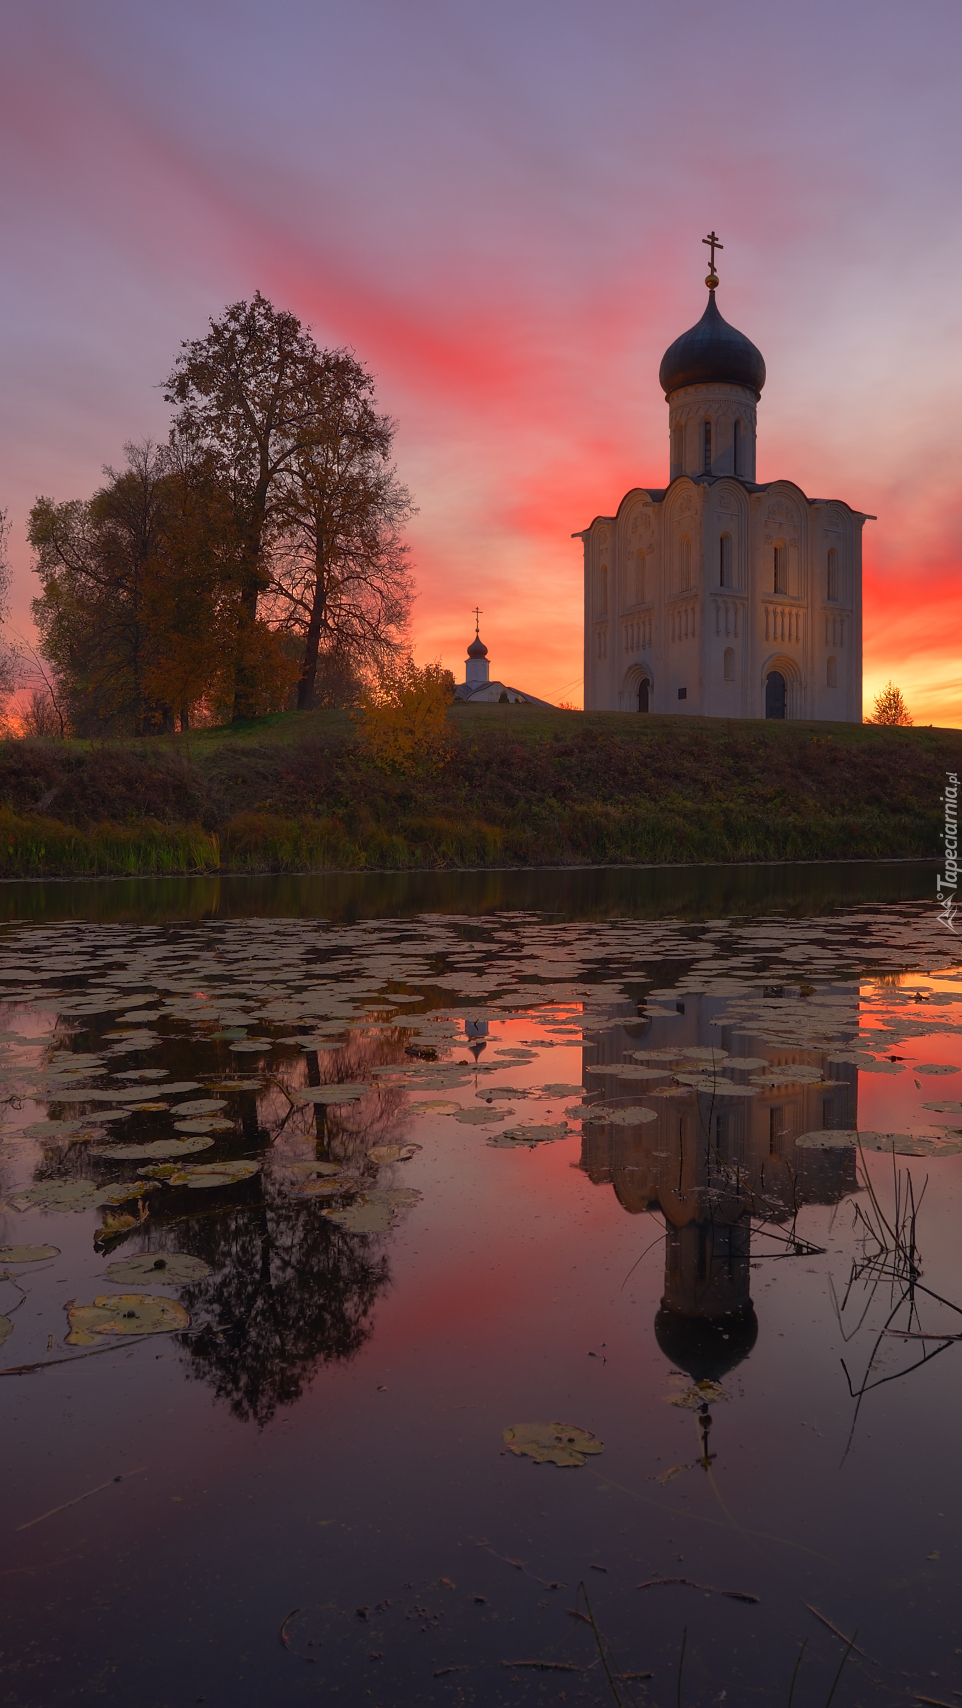
[[[395,777],[347,712],[0,745],[0,876],[935,857],[962,731],[455,705]]]

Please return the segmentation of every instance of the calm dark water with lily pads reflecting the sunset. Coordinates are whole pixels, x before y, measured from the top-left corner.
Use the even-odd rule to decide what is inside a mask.
[[[3,886],[0,1703],[962,1699],[933,888]]]

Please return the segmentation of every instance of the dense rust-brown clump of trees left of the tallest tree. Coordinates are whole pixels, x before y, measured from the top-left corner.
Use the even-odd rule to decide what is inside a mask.
[[[232,690],[241,646],[258,709],[284,704],[296,671],[267,625],[244,620],[234,509],[208,454],[128,446],[106,475],[89,500],[38,499],[29,523],[39,651],[73,729],[186,728],[198,702]]]

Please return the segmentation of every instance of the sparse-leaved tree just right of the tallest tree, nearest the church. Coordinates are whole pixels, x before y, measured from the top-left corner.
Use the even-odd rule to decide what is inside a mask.
[[[299,711],[314,705],[320,659],[326,675],[369,673],[403,646],[412,584],[400,531],[415,512],[390,463],[395,430],[361,362],[325,350],[314,424],[279,482],[270,553],[273,618],[304,644]]]

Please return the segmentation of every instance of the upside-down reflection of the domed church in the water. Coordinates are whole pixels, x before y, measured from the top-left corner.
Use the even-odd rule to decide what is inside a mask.
[[[586,1069],[622,1066],[629,1050],[714,1045],[731,1056],[764,1056],[774,1069],[820,1068],[825,1081],[713,1102],[704,1091],[653,1097],[646,1081],[586,1073],[586,1086],[595,1095],[605,1088],[605,1102],[613,1090],[624,1103],[656,1110],[646,1126],[586,1124],[581,1160],[591,1182],[613,1185],[631,1214],[665,1216],[665,1295],[654,1334],[692,1380],[719,1380],[752,1351],[759,1332],[752,1221],[767,1221],[784,1238],[805,1204],[834,1204],[854,1187],[853,1151],[796,1149],[796,1139],[858,1126],[858,1073],[825,1064],[818,1050],[752,1040],[742,1030],[731,1042],[711,1025],[718,997],[685,994],[677,1008],[677,1020],[625,1020],[601,1032],[586,1050]],[[653,1081],[661,1083],[668,1081]]]

